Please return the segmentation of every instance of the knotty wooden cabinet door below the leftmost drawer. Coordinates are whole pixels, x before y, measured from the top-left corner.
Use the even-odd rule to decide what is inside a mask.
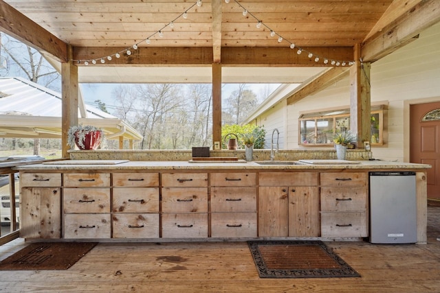
[[[61,237],[61,189],[22,187],[20,195],[20,237]]]

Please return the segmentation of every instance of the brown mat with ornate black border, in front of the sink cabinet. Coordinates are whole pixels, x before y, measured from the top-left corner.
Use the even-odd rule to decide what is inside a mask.
[[[260,278],[360,277],[321,241],[248,242]]]

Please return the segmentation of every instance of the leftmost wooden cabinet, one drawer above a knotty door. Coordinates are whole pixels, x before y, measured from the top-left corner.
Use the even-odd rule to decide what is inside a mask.
[[[61,238],[61,174],[20,172],[20,237]]]

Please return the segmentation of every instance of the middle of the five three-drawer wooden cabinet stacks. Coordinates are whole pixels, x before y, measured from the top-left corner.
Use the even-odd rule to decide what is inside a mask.
[[[208,237],[208,174],[162,174],[162,237]]]

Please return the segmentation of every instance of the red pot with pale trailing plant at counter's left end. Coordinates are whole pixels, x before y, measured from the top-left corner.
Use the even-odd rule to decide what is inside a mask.
[[[80,150],[96,150],[102,139],[102,130],[91,125],[71,126],[67,132],[67,144],[74,149],[75,145]]]

